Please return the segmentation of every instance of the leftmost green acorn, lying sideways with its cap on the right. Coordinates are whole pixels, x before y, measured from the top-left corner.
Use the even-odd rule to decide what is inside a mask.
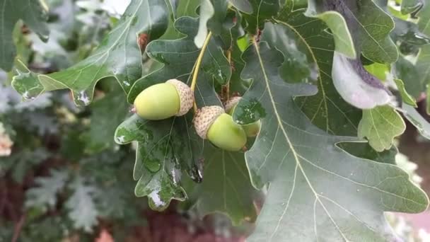
[[[134,109],[146,120],[164,120],[185,115],[193,103],[191,88],[182,81],[170,79],[141,91],[134,99]]]

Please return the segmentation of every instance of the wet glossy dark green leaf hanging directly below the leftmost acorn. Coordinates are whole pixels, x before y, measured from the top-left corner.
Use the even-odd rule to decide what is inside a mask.
[[[170,200],[185,200],[185,191],[180,187],[181,170],[177,167],[173,139],[175,129],[173,120],[149,121],[133,115],[117,128],[115,141],[118,144],[138,142],[136,163],[133,177],[138,180],[135,194],[138,197],[148,196],[152,209],[162,210],[168,207]],[[187,154],[187,149],[182,148]]]

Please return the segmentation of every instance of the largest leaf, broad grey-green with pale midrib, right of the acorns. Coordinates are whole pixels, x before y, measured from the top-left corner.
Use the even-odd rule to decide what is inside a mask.
[[[303,28],[312,28],[315,19],[307,20]],[[269,183],[248,241],[387,241],[394,235],[387,234],[384,211],[426,209],[425,193],[407,173],[347,154],[336,144],[351,139],[326,134],[310,123],[293,98],[316,89],[281,80],[280,52],[267,42],[255,42],[243,59],[242,77],[252,79],[252,86],[233,115],[240,123],[262,118],[245,159],[252,184],[262,188]],[[365,175],[369,173],[378,175]]]

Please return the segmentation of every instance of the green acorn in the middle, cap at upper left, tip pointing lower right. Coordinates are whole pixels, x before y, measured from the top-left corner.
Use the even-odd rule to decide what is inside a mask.
[[[206,106],[194,116],[194,127],[202,139],[209,139],[215,146],[226,151],[239,151],[246,144],[242,126],[233,121],[220,106]]]

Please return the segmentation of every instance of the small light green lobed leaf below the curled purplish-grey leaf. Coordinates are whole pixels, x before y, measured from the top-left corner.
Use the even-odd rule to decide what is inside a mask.
[[[405,132],[405,122],[397,111],[388,106],[363,110],[359,123],[359,137],[368,139],[376,151],[390,149],[393,139]]]

